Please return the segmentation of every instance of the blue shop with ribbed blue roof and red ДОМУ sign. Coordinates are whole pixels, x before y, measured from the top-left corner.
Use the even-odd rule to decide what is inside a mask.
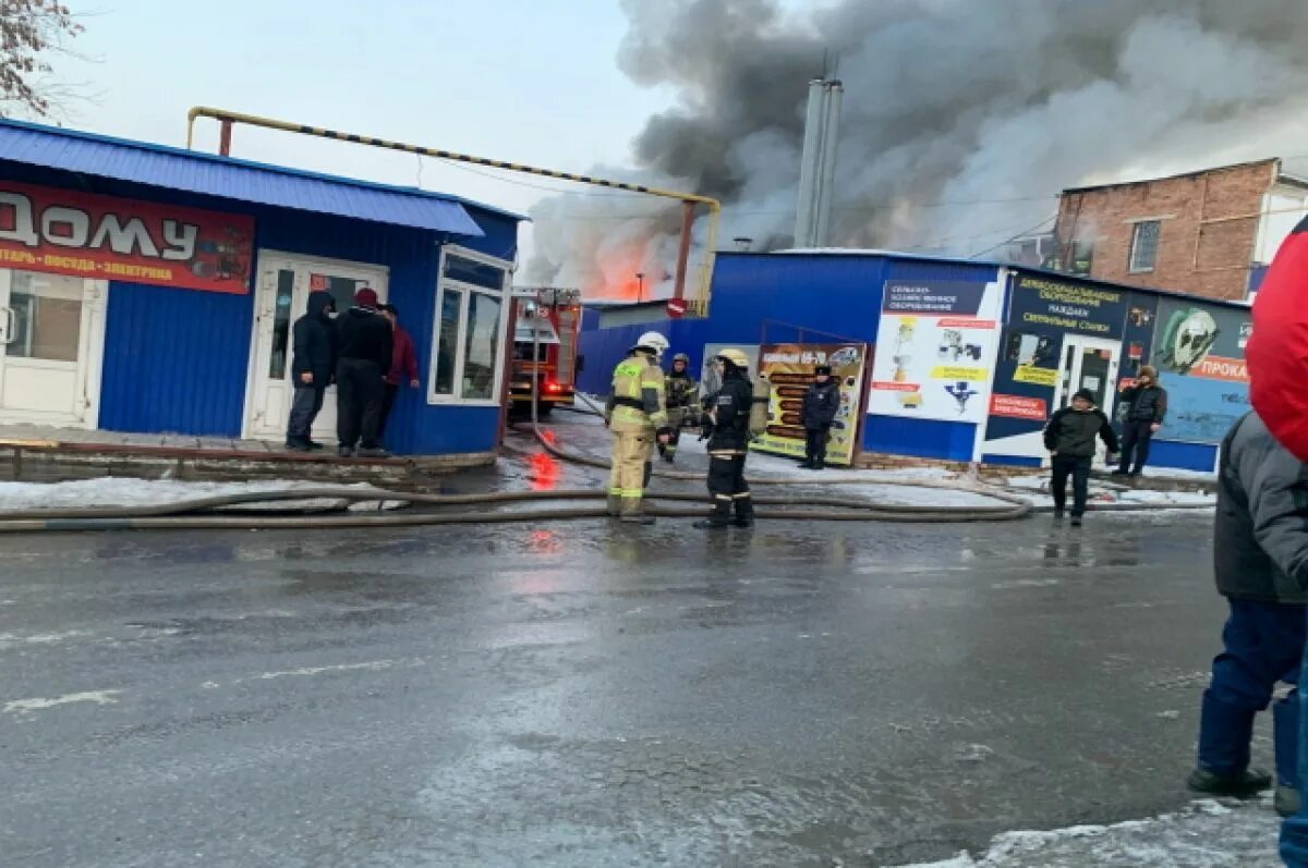
[[[311,292],[398,307],[402,455],[498,444],[521,217],[455,196],[0,122],[0,424],[281,441]],[[331,441],[335,390],[315,426]]]

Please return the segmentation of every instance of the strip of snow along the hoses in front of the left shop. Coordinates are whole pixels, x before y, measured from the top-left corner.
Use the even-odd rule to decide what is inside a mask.
[[[324,485],[305,480],[259,480],[251,482],[184,482],[178,480],[135,480],[119,476],[106,476],[94,480],[76,480],[71,482],[0,482],[0,510],[68,510],[105,506],[158,506],[164,503],[177,503],[192,501],[203,497],[218,497],[225,494],[245,494],[251,492],[285,492],[289,489],[315,489],[315,488],[358,488],[368,490],[370,486],[360,485]],[[331,510],[345,505],[340,499],[314,499],[294,501],[281,503],[242,505],[242,510],[255,509],[286,509],[293,506],[297,510]],[[352,510],[375,510],[377,501],[357,502]],[[387,501],[386,509],[395,509],[402,503]]]

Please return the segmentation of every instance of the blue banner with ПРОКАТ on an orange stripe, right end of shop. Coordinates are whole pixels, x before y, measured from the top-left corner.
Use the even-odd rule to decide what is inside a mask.
[[[1168,441],[1220,443],[1249,412],[1244,346],[1252,331],[1245,310],[1162,299],[1154,363],[1167,390]]]

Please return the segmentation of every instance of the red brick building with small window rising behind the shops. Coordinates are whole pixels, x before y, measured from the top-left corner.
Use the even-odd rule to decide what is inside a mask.
[[[1059,271],[1241,301],[1308,210],[1308,180],[1279,159],[1065,190]]]

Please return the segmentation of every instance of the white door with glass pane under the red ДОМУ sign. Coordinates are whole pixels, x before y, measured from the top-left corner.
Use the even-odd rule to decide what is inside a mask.
[[[0,271],[0,422],[95,427],[107,284]]]

